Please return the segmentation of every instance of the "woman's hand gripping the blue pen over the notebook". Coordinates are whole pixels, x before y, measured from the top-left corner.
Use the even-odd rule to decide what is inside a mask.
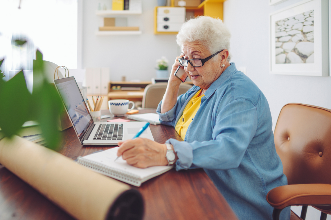
[[[146,138],[118,142],[117,156],[132,166],[146,168],[151,166],[167,165],[166,145]]]

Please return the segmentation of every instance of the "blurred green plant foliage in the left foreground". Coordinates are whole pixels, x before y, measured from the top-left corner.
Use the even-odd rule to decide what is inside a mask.
[[[26,41],[16,40],[17,46]],[[0,66],[3,59],[0,60]],[[39,122],[47,147],[58,150],[61,134],[58,131],[58,120],[63,108],[61,98],[54,85],[49,84],[44,73],[42,53],[36,51],[33,64],[33,80],[36,86],[31,94],[25,82],[23,70],[13,78],[5,81],[0,71],[0,128],[4,137],[13,137],[22,129],[26,121]],[[1,140],[1,139],[0,139]]]

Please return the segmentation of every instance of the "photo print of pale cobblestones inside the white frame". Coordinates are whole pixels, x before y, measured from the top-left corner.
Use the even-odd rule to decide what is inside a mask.
[[[314,10],[276,21],[276,63],[314,63]]]

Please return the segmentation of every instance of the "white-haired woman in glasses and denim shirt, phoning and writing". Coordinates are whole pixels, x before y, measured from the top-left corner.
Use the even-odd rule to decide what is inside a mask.
[[[268,102],[229,63],[230,37],[219,19],[200,16],[183,24],[177,35],[182,54],[157,112],[184,141],[138,138],[120,142],[118,155],[136,167],[203,168],[239,219],[272,219],[266,194],[286,185],[287,178],[275,150]],[[177,98],[181,82],[173,74],[179,65],[194,86]],[[289,217],[286,208],[281,219]]]

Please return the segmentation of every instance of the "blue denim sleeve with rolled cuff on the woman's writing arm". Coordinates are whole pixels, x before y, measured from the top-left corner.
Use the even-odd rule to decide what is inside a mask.
[[[217,110],[212,140],[202,142],[168,140],[178,156],[176,170],[237,168],[256,133],[257,124],[257,110],[251,102],[232,101],[221,110]],[[204,135],[202,131],[200,135]]]

